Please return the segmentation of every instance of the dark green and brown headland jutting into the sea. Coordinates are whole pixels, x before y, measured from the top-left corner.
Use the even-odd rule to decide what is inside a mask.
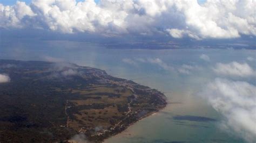
[[[101,142],[166,106],[156,89],[72,63],[0,60],[1,142]]]

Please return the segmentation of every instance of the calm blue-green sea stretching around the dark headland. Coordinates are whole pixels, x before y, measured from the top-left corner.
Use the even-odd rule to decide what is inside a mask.
[[[246,60],[248,56],[256,59],[255,53],[246,49],[106,49],[82,42],[44,41],[1,48],[0,59],[68,61],[165,92],[170,102],[165,109],[105,142],[244,142],[232,131],[220,128],[223,117],[199,93],[207,82],[219,77],[212,71],[215,63],[247,62],[255,68]],[[201,54],[208,55],[210,61],[200,59]],[[179,72],[184,65],[189,73]],[[245,80],[255,85],[253,79]],[[217,121],[175,120],[175,116]]]

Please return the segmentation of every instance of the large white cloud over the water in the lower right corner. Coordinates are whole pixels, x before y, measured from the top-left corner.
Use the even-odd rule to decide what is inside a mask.
[[[248,142],[256,141],[256,87],[247,82],[216,78],[201,93],[225,119],[223,127]]]

